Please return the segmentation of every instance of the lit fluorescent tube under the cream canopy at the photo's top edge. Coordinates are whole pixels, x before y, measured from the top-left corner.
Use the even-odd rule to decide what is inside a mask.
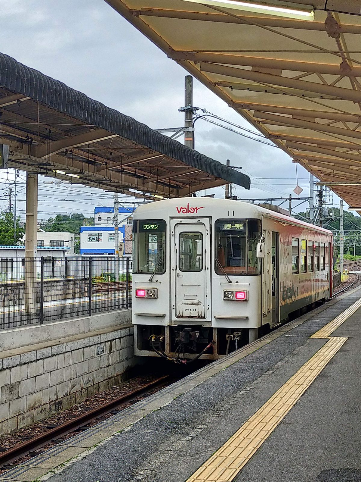
[[[290,6],[277,6],[277,4],[269,3],[252,3],[249,1],[238,0],[185,0],[193,3],[202,3],[206,5],[215,5],[216,7],[228,7],[245,12],[264,13],[266,15],[276,15],[287,18],[296,18],[297,20],[313,20],[314,11],[312,5],[302,5],[302,9],[298,9],[298,5],[291,3]],[[295,8],[292,8],[295,7]]]

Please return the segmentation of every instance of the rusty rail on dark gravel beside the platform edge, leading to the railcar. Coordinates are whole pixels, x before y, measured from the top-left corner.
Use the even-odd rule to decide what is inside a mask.
[[[160,378],[157,378],[140,388],[136,388],[129,393],[121,395],[114,400],[84,412],[61,425],[51,428],[29,440],[26,440],[25,442],[19,443],[8,450],[1,452],[0,469],[7,469],[8,465],[11,465],[19,459],[22,459],[26,455],[39,455],[39,450],[50,442],[56,443],[61,437],[64,437],[69,433],[89,428],[88,425],[91,422],[96,423],[99,421],[99,418],[109,413],[117,413],[121,410],[119,410],[121,405],[129,402],[137,402],[140,396],[150,395],[151,392],[165,387],[172,380],[173,377],[171,375],[161,376]]]

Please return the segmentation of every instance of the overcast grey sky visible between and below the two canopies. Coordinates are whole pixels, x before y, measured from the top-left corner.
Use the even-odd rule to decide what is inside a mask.
[[[150,40],[124,20],[103,0],[0,0],[0,51],[46,75],[63,81],[88,96],[150,127],[183,125],[184,76]],[[254,130],[215,94],[194,80],[193,104]],[[276,147],[262,145],[199,120],[195,148],[207,156],[242,166],[251,177],[249,191],[236,187],[240,198],[294,195],[296,168],[291,158]],[[181,139],[181,138],[180,138]],[[25,175],[20,173],[18,212],[24,215]],[[0,185],[0,208],[13,189]],[[109,194],[98,189],[47,184],[39,178],[39,218],[54,213],[91,214],[96,205],[112,204]],[[44,184],[46,183],[46,184]],[[298,184],[309,195],[309,174],[298,166]],[[217,197],[224,188],[213,189]],[[339,202],[334,196],[335,203]],[[305,210],[306,204],[299,209]]]

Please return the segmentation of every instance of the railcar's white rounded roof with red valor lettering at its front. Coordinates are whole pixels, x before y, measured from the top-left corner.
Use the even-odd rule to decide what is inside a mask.
[[[174,207],[174,212],[173,209]],[[258,206],[257,204],[252,204],[250,202],[245,202],[245,201],[233,201],[229,199],[218,199],[218,198],[195,198],[195,197],[189,197],[189,198],[175,198],[175,199],[167,199],[163,201],[154,201],[154,202],[149,202],[147,204],[144,204],[142,206],[139,206],[135,211],[134,211],[134,218],[137,218],[137,216],[143,217],[144,215],[158,215],[161,216],[161,214],[164,215],[165,212],[171,210],[171,213],[167,213],[169,217],[177,217],[180,215],[180,212],[177,212],[177,208],[180,209],[181,207],[188,209],[192,208],[198,208],[203,209],[203,208],[224,208],[225,210],[229,209],[237,209],[237,212],[239,213],[240,210],[242,209],[243,212],[243,217],[260,217],[262,214],[266,215],[267,217],[270,217],[272,219],[278,219],[280,221],[284,221],[287,224],[293,224],[295,226],[303,226],[305,228],[312,229],[314,231],[321,231],[324,232],[325,234],[332,235],[332,232],[328,229],[325,228],[320,228],[319,226],[315,226],[314,224],[307,223],[305,221],[300,221],[299,219],[294,218],[293,216],[285,215],[282,213],[277,213],[271,209],[267,209],[262,206]],[[200,216],[211,216],[211,214],[206,214],[206,212],[194,212],[190,213],[193,216],[199,214]],[[218,214],[217,214],[218,216]]]

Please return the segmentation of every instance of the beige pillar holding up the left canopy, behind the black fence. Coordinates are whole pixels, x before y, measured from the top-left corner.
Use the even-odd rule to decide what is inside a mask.
[[[35,261],[38,247],[38,174],[26,173],[26,226],[25,226],[25,312],[37,308],[37,272]]]

